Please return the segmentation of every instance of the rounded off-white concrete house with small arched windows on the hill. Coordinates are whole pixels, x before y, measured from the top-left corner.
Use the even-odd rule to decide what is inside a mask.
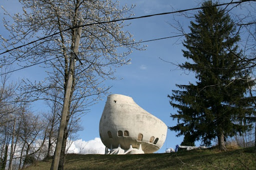
[[[131,97],[112,94],[99,122],[99,136],[105,154],[148,154],[159,150],[167,126],[139,107]]]

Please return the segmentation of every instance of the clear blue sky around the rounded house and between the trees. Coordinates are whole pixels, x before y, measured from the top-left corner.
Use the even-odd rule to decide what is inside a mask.
[[[8,11],[19,11],[17,0],[1,0]],[[169,12],[177,9],[186,9],[198,7],[200,0],[120,0],[121,4],[136,4],[134,8],[135,16]],[[0,9],[0,18],[3,11]],[[176,17],[180,19],[180,23],[187,29],[189,20],[182,19],[184,17]],[[174,23],[173,16],[160,15],[148,18],[129,20],[131,25],[126,27],[133,35],[135,40],[150,40],[155,38],[167,37],[175,35],[176,32],[168,23]],[[2,25],[1,25],[2,27]],[[4,34],[4,30],[0,29],[0,34]],[[161,119],[167,126],[174,126],[176,121],[170,118],[170,113],[175,113],[169,105],[167,94],[171,94],[175,84],[187,84],[188,81],[193,82],[193,75],[186,74],[178,70],[175,65],[164,62],[167,60],[173,63],[181,63],[185,61],[182,56],[182,44],[177,38],[169,38],[158,41],[144,43],[147,45],[144,51],[133,51],[128,58],[131,58],[131,64],[116,69],[116,76],[121,80],[106,81],[112,88],[109,90],[111,94],[122,94],[133,98],[133,100],[144,110]],[[29,78],[31,80],[43,79],[44,70],[38,67],[31,67],[14,72],[13,80],[21,78]],[[83,131],[78,132],[78,138],[83,141],[99,138],[98,124],[102,114],[106,97],[102,101],[90,107],[90,112],[81,119]],[[34,108],[40,110],[39,108]],[[162,153],[165,148],[174,148],[182,142],[182,137],[175,137],[176,133],[167,131],[167,138],[163,147],[158,151]],[[199,143],[196,143],[198,146]]]

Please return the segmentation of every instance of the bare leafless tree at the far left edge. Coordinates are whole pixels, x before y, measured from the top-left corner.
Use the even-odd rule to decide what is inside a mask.
[[[8,67],[1,68],[1,73],[9,71]],[[18,97],[16,91],[19,87],[17,83],[9,82],[9,74],[0,76],[0,169],[4,170],[7,161],[9,169],[13,157],[13,147],[15,138],[15,118],[18,111]],[[9,152],[10,150],[10,152]],[[7,160],[7,158],[10,158]]]

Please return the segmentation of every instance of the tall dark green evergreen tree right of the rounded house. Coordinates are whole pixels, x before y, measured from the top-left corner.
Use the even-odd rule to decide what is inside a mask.
[[[189,59],[180,68],[193,71],[196,82],[176,85],[181,90],[172,90],[170,105],[177,109],[171,114],[177,125],[169,127],[184,135],[183,142],[201,140],[206,146],[217,137],[219,150],[225,150],[224,140],[250,125],[242,125],[246,114],[252,113],[244,95],[248,88],[245,65],[236,43],[234,23],[225,10],[214,6],[209,0],[206,7],[195,14],[190,22],[190,34],[183,42],[187,50],[183,56]],[[252,84],[250,84],[252,85]]]

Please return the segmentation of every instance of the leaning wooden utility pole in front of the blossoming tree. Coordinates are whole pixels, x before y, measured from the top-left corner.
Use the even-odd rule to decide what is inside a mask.
[[[78,28],[76,30],[73,53],[71,55],[70,65],[69,65],[69,70],[68,70],[68,79],[67,79],[67,85],[66,85],[66,88],[65,88],[65,96],[64,96],[64,102],[63,102],[62,114],[61,114],[61,118],[60,118],[57,144],[56,144],[54,157],[53,157],[53,160],[52,160],[52,163],[51,163],[50,170],[57,170],[58,169],[61,145],[62,145],[62,141],[63,141],[63,135],[64,135],[64,129],[65,129],[65,123],[66,123],[66,116],[67,116],[67,113],[69,111],[68,110],[68,105],[69,105],[71,87],[72,87],[72,81],[73,81],[75,55],[78,52],[78,46],[79,46],[80,36],[81,36],[81,27],[80,27],[81,24],[82,24],[82,22],[79,21]]]

